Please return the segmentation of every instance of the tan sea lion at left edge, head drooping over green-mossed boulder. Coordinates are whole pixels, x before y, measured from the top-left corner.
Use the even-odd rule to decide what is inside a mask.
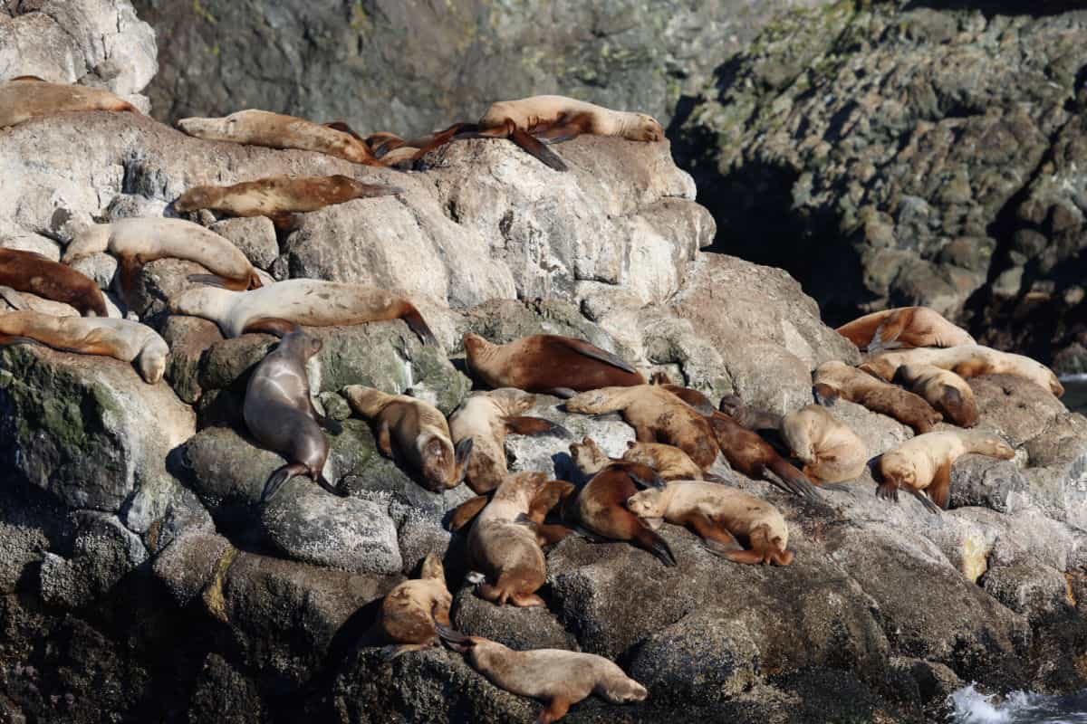
[[[0,345],[25,342],[132,363],[148,384],[162,379],[170,354],[158,332],[127,319],[54,317],[28,310],[0,314]]]

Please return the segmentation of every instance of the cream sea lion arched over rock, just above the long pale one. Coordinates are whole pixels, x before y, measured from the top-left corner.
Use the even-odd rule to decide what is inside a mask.
[[[120,259],[121,289],[126,295],[143,265],[161,258],[195,262],[220,277],[229,290],[261,287],[257,269],[240,249],[214,231],[179,218],[124,218],[89,225],[76,233],[63,262],[72,264],[99,252]]]

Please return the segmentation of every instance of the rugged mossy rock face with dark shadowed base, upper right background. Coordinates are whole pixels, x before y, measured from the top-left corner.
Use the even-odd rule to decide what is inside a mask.
[[[682,120],[715,249],[789,270],[832,323],[925,304],[1051,359],[1083,326],[1085,39],[1060,3],[778,17]]]

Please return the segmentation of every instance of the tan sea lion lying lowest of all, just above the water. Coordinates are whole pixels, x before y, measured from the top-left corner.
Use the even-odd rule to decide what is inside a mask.
[[[515,651],[479,636],[464,636],[446,626],[438,633],[446,645],[467,657],[472,668],[491,684],[546,702],[536,724],[551,724],[572,706],[596,694],[612,703],[642,701],[646,687],[608,659],[562,649]]]

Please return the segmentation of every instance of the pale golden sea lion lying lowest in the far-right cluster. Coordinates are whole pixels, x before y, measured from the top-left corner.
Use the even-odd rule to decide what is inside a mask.
[[[928,432],[884,453],[879,459],[883,484],[876,495],[897,503],[898,491],[904,488],[933,512],[947,509],[951,495],[951,466],[966,453],[1002,460],[1015,457],[1015,450],[992,433],[966,430]]]

